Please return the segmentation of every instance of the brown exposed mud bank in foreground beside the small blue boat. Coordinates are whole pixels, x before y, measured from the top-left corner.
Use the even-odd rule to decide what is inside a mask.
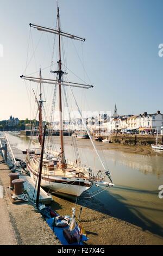
[[[52,208],[60,215],[71,215],[74,203],[53,196]],[[78,217],[80,205],[76,206]],[[128,222],[102,214],[99,211],[84,208],[80,223],[87,232],[89,245],[163,245],[163,239],[142,231]]]

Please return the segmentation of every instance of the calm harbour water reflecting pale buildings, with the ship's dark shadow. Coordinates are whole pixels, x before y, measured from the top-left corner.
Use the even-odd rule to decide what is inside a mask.
[[[8,138],[12,146],[19,150],[26,150],[29,146],[29,138],[26,136],[8,134]],[[59,137],[53,137],[53,141],[59,150]],[[96,170],[101,169],[90,140],[80,139],[77,144],[82,163]],[[121,150],[106,150],[101,142],[96,144],[115,186],[89,198],[100,189],[93,186],[89,193],[78,198],[78,204],[120,218],[144,231],[163,237],[163,199],[158,197],[158,188],[163,185],[163,155],[130,154]],[[37,147],[37,144],[33,144],[33,147]],[[70,137],[65,137],[65,153],[68,159],[75,160]]]

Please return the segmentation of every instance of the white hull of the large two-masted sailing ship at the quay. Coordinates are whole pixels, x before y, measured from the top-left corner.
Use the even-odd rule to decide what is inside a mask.
[[[30,176],[34,181],[37,179],[37,173],[27,164],[27,168],[30,172]],[[55,181],[52,181],[55,180]],[[73,185],[73,183],[78,183]],[[71,183],[71,184],[70,184]],[[41,186],[55,191],[55,193],[63,193],[71,196],[81,196],[81,194],[89,190],[92,186],[92,182],[77,179],[77,178],[65,178],[64,176],[51,176],[42,175]]]

